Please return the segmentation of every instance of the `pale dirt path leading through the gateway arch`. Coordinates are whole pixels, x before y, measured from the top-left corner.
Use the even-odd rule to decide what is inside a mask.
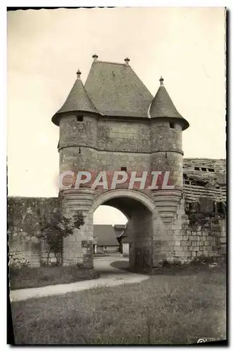
[[[95,258],[95,270],[100,272],[100,278],[93,280],[85,280],[84,282],[76,282],[71,284],[58,284],[43,286],[41,288],[19,289],[10,293],[11,301],[27,300],[28,298],[41,298],[43,296],[60,295],[62,293],[70,293],[74,291],[82,291],[86,289],[98,288],[100,286],[118,286],[124,284],[140,283],[149,277],[142,274],[135,274],[119,270],[111,266],[115,261],[123,260],[121,256],[109,256]]]

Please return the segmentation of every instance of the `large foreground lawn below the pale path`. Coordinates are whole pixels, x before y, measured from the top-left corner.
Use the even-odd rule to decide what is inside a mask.
[[[12,303],[17,344],[175,344],[226,338],[226,276],[218,267],[140,284]]]

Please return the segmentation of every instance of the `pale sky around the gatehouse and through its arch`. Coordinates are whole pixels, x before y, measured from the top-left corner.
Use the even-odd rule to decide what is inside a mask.
[[[225,158],[224,8],[8,12],[8,195],[58,196],[59,128],[51,117],[78,68],[85,82],[93,53],[113,62],[128,56],[153,95],[162,75],[190,124],[185,157]],[[103,206],[94,220],[126,222]]]

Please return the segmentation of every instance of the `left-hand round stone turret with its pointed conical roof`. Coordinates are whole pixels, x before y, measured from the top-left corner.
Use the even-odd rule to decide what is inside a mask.
[[[95,168],[97,119],[100,113],[81,81],[81,72],[78,70],[76,74],[76,81],[64,105],[52,118],[53,123],[60,127],[60,174],[87,166]],[[87,160],[90,165],[87,165]]]

